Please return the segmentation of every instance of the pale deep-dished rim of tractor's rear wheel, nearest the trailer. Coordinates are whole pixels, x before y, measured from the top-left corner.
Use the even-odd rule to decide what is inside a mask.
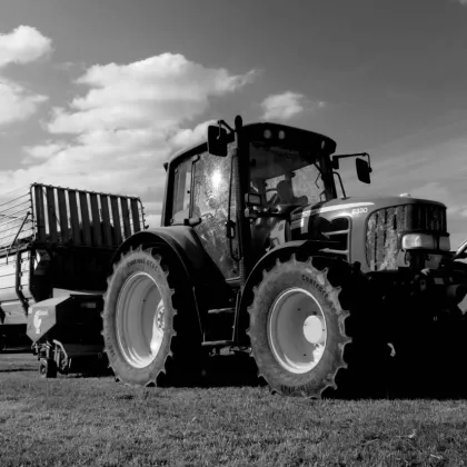
[[[165,307],[159,288],[146,272],[130,276],[117,302],[117,339],[129,365],[145,368],[163,339]]]

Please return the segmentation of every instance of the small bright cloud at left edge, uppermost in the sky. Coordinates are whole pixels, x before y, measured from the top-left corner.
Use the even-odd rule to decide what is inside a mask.
[[[7,34],[0,34],[0,67],[29,63],[51,51],[51,39],[30,26],[19,26]]]

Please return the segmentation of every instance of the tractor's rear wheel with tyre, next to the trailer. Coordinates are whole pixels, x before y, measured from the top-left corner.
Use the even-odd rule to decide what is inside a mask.
[[[180,282],[177,264],[171,268],[167,261],[157,249],[130,249],[108,279],[106,354],[117,379],[127,385],[187,385],[198,376],[196,310],[180,309],[192,306],[190,290]]]

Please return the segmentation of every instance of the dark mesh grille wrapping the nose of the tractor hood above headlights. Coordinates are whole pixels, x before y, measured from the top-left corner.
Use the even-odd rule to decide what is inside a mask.
[[[404,231],[446,234],[446,208],[403,205],[379,209],[368,218],[367,261],[371,270],[397,269],[397,238]]]

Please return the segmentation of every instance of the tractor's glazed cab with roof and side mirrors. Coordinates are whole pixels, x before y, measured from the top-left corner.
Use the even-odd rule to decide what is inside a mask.
[[[166,165],[162,225],[193,227],[223,278],[245,284],[269,249],[290,240],[294,211],[337,198],[335,150],[332,139],[312,131],[220,121],[207,142]],[[357,161],[361,179],[370,168]]]

